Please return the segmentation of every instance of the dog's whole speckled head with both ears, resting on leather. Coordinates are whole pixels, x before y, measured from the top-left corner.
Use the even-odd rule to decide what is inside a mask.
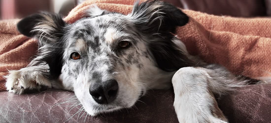
[[[135,3],[128,15],[92,7],[86,17],[67,24],[57,14],[28,16],[18,30],[39,40],[31,62],[46,62],[50,79],[62,79],[86,111],[132,107],[148,89],[171,86],[174,72],[191,65],[172,40],[188,22],[180,9],[161,1]]]

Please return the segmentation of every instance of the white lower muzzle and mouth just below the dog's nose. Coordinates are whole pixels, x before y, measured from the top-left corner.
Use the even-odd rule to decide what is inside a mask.
[[[116,98],[109,103],[98,103],[93,99],[93,95],[89,90],[82,92],[81,89],[76,89],[75,94],[82,103],[83,108],[92,116],[99,114],[114,112],[123,108],[133,107],[138,99],[144,96],[146,90],[139,88],[138,90],[119,88]]]

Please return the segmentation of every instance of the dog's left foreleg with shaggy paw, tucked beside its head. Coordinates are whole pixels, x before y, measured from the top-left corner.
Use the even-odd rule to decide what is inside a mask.
[[[39,65],[9,71],[9,75],[5,76],[7,80],[5,86],[9,92],[17,94],[22,94],[25,90],[39,91],[44,86],[48,89],[61,88],[62,85],[58,81],[48,78],[48,68],[48,65]]]

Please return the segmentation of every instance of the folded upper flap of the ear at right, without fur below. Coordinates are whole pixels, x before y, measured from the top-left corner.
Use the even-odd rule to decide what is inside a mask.
[[[135,2],[130,14],[134,23],[138,23],[146,32],[157,33],[167,31],[175,33],[177,26],[183,26],[189,17],[175,6],[160,0]]]

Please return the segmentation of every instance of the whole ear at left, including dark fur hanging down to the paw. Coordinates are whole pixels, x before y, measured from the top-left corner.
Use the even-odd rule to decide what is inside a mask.
[[[56,78],[62,69],[63,41],[66,22],[58,14],[42,12],[23,18],[17,24],[18,31],[28,37],[39,40],[37,57],[29,66],[37,66],[44,62],[49,65],[49,78]],[[44,73],[45,74],[45,73]]]

